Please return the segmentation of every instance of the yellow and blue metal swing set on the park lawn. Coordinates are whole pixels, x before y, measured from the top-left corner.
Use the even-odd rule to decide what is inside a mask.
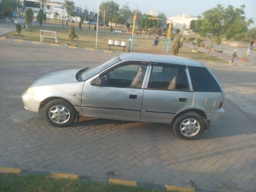
[[[133,16],[133,25],[132,25],[131,51],[132,51],[132,46],[133,46],[133,35],[134,35],[134,27],[135,27],[135,20],[136,20],[136,18],[147,19],[147,21],[146,21],[146,30],[147,30],[147,24],[148,24],[148,20],[149,19],[151,19],[151,20],[158,20],[157,21],[156,29],[158,29],[159,21],[166,21],[166,20],[168,20],[168,19],[161,19],[161,18],[154,18],[154,17],[145,17],[145,16],[136,16],[136,15],[134,15]],[[165,44],[164,44],[164,52],[166,50],[166,54],[168,54],[169,41],[170,41],[170,36],[171,36],[171,26],[172,26],[172,20],[169,20],[169,21],[170,21],[170,25],[169,25],[169,28],[168,28],[168,32],[167,32],[167,36],[166,36],[166,40],[165,40]],[[163,22],[162,28],[163,28],[163,26],[164,26],[164,22]],[[144,39],[145,39],[145,36],[144,36]]]

